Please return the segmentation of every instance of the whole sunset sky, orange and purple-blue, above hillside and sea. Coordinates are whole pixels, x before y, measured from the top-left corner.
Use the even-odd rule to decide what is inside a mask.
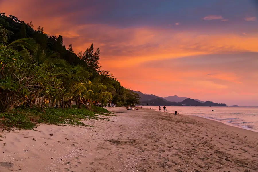
[[[100,48],[124,87],[258,106],[258,8],[251,0],[0,0],[0,12]]]

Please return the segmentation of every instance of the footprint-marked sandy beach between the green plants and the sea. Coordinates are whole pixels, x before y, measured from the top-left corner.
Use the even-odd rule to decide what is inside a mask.
[[[83,121],[94,127],[0,132],[0,172],[258,171],[257,132],[146,108],[108,110],[111,121]]]

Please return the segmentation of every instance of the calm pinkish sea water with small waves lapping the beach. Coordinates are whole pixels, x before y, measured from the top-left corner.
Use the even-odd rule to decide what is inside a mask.
[[[159,106],[143,106],[159,110]],[[194,115],[216,120],[230,126],[236,126],[258,132],[258,107],[198,107],[198,106],[166,106],[168,113]],[[215,110],[215,111],[212,111]],[[163,106],[161,106],[163,111]]]

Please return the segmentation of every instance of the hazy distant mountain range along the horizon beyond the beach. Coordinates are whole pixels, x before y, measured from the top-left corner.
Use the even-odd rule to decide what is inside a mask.
[[[132,90],[133,91],[133,90]],[[151,106],[227,106],[226,104],[214,103],[212,101],[201,101],[187,97],[178,97],[177,95],[168,97],[159,97],[153,94],[144,94],[140,91],[134,91],[140,96],[141,105]]]

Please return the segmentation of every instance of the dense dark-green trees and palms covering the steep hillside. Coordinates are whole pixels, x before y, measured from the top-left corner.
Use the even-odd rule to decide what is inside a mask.
[[[20,106],[41,112],[46,107],[68,110],[73,102],[90,109],[95,102],[138,103],[138,94],[101,70],[99,48],[94,52],[92,44],[75,54],[72,44],[65,47],[61,35],[49,36],[43,27],[32,27],[31,22],[0,13],[0,112]]]

